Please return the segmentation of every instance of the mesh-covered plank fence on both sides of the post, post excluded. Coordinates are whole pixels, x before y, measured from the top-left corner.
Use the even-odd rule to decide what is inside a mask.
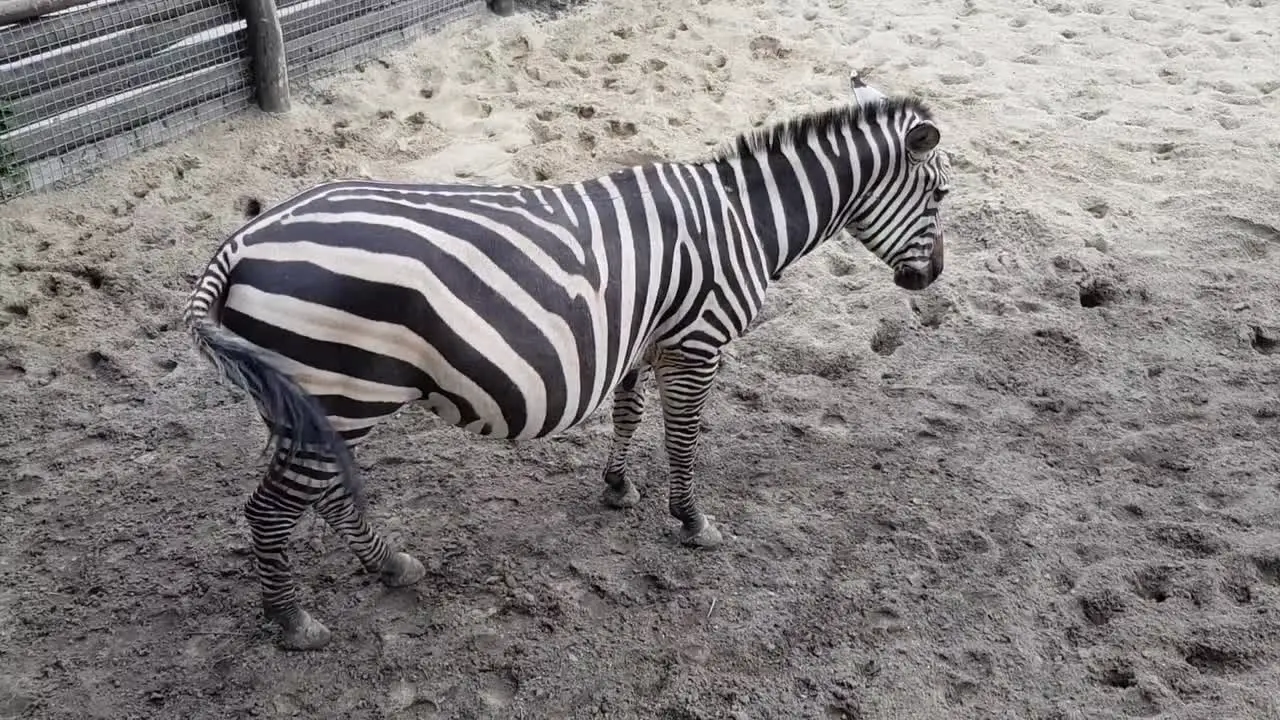
[[[291,79],[485,0],[279,0]],[[97,0],[0,27],[0,202],[78,182],[255,99],[237,0]]]

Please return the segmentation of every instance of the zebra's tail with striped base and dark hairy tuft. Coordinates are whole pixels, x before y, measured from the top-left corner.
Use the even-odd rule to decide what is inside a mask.
[[[220,300],[219,287],[201,283],[188,302],[186,322],[196,348],[232,384],[247,392],[266,419],[268,438],[265,451],[284,450],[284,462],[292,462],[300,448],[323,447],[338,464],[342,484],[351,493],[357,509],[365,507],[364,482],[356,471],[351,448],[329,423],[329,416],[314,396],[307,393],[288,374],[271,364],[266,355],[216,324],[209,316],[209,295]],[[285,445],[284,441],[288,441]]]

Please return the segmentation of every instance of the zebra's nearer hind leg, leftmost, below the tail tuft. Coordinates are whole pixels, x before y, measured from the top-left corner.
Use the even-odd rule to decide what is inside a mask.
[[[244,503],[262,614],[279,625],[284,650],[319,650],[329,644],[329,628],[298,603],[288,544],[298,519],[337,474],[337,465],[324,455],[300,450],[287,462],[285,450],[278,448],[266,475]]]

